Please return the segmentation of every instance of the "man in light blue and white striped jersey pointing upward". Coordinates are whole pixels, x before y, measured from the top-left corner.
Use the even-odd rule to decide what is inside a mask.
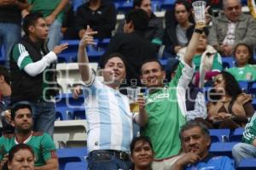
[[[119,92],[121,82],[125,79],[125,59],[120,54],[110,54],[103,65],[101,82],[90,69],[86,46],[95,44],[90,26],[79,42],[79,71],[84,88],[84,104],[89,123],[88,130],[88,165],[90,170],[128,170],[129,144],[131,144],[132,121],[143,124],[145,116],[142,107],[144,100],[139,101],[140,111],[132,114],[129,99]]]

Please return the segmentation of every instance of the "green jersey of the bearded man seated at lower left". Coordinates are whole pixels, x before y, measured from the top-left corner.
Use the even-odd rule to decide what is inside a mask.
[[[0,138],[0,160],[3,159],[3,156],[7,154],[15,144],[18,144],[15,140],[15,136],[11,138],[2,136]],[[24,144],[28,144],[32,147],[36,156],[36,167],[45,165],[45,161],[48,161],[50,158],[56,158],[55,144],[47,133],[32,132],[32,135],[24,141]]]

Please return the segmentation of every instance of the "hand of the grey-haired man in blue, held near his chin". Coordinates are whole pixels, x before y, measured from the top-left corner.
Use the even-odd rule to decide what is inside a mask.
[[[200,156],[198,156],[195,153],[189,152],[189,153],[185,153],[183,156],[181,156],[177,160],[176,165],[178,167],[185,167],[189,164],[193,164],[193,163],[195,163],[197,161],[200,161],[200,160],[201,160]]]

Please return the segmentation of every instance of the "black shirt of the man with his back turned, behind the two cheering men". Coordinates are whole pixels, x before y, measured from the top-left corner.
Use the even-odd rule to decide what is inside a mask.
[[[133,31],[131,33],[116,34],[109,42],[108,48],[101,59],[100,65],[103,68],[102,62],[104,57],[109,54],[119,53],[124,55],[126,60],[126,80],[127,84],[132,81],[140,83],[140,67],[145,59],[156,58],[156,50],[145,37],[143,32]],[[132,83],[134,84],[134,83]]]

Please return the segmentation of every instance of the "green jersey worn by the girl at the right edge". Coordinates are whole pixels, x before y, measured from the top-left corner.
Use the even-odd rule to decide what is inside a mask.
[[[253,65],[232,67],[228,71],[236,78],[236,81],[256,81],[256,68]]]

